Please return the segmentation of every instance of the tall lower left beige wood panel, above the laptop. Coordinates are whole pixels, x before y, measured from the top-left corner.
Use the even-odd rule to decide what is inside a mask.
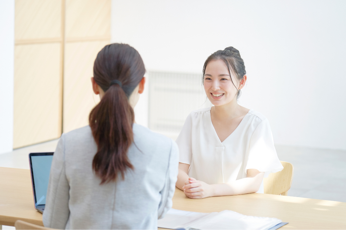
[[[61,135],[61,44],[15,46],[13,148]]]

